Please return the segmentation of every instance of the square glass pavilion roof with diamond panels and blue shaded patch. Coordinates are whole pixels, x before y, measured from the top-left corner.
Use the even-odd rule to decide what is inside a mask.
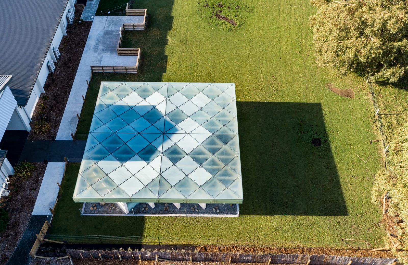
[[[235,85],[102,82],[73,200],[242,203]]]

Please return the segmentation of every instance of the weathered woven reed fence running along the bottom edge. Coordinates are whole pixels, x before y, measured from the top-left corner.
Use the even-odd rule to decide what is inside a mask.
[[[119,259],[119,255],[123,259],[139,259],[155,260],[164,258],[171,261],[229,261],[242,263],[268,263],[271,258],[271,263],[280,264],[305,264],[310,260],[313,265],[346,265],[350,261],[352,265],[385,265],[392,264],[396,258],[362,258],[362,257],[345,257],[345,256],[329,256],[329,255],[300,255],[300,254],[230,254],[230,253],[205,253],[205,252],[147,252],[147,251],[107,251],[107,250],[78,250],[67,249],[67,253],[73,258],[100,258],[102,259]],[[82,256],[81,256],[82,255]],[[100,256],[99,256],[100,255]]]

